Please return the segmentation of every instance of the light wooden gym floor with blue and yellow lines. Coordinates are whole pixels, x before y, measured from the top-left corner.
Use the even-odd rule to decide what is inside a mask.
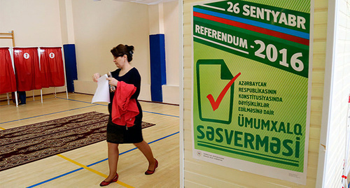
[[[57,94],[27,98],[27,105],[0,103],[0,131],[60,117],[97,111],[108,113],[106,103],[92,104],[91,95]],[[148,163],[134,145],[120,145],[119,180],[108,187],[179,187],[179,106],[140,102],[144,122],[155,126],[143,129],[159,167],[144,175]],[[29,164],[0,172],[0,187],[99,187],[109,174],[106,141],[80,147]]]

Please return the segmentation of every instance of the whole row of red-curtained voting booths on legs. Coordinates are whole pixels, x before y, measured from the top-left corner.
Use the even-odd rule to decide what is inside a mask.
[[[66,87],[62,47],[1,47],[0,65],[0,94],[16,92],[16,106],[17,91],[33,90],[34,99],[34,89],[40,89],[43,103],[42,88],[55,87],[56,96],[56,87]]]

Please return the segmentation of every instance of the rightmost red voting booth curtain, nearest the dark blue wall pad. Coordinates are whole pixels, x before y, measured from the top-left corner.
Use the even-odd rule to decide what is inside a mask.
[[[64,86],[62,48],[40,48],[43,87]]]

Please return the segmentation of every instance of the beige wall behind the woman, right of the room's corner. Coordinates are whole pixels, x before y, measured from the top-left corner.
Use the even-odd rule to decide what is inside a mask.
[[[115,70],[110,50],[123,43],[135,47],[132,65],[138,68],[141,74],[139,99],[151,101],[149,34],[154,30],[151,26],[156,22],[157,30],[159,31],[158,24],[161,23],[164,24],[165,31],[167,85],[163,86],[163,102],[179,104],[177,1],[163,4],[164,20],[153,20],[155,17],[149,15],[149,11],[158,10],[158,6],[111,0],[76,0],[72,1],[72,4],[78,69],[78,80],[74,81],[76,92],[94,93],[96,84],[91,81],[91,75],[95,72],[106,73]]]

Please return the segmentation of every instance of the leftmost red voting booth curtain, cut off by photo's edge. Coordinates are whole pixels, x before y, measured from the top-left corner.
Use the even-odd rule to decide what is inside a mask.
[[[10,48],[0,48],[0,94],[15,92],[16,78],[13,72]]]

